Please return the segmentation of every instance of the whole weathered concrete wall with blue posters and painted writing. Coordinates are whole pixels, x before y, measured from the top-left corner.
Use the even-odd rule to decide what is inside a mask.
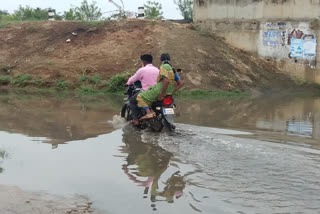
[[[194,24],[320,83],[320,0],[195,0]]]

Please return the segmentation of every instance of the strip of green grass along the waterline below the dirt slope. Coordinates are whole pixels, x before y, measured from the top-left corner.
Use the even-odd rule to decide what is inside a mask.
[[[7,72],[10,68],[1,67],[2,72]],[[103,80],[99,75],[80,76],[77,82],[68,82],[60,79],[56,82],[48,82],[38,78],[33,78],[28,74],[20,76],[0,75],[0,87],[22,88],[25,90],[47,91],[47,92],[74,92],[81,95],[101,95],[116,94],[123,95],[126,88],[124,84],[132,75],[132,72],[118,74],[108,80]],[[176,96],[187,99],[218,98],[218,97],[242,97],[246,96],[238,90],[234,91],[210,91],[210,90],[180,90]]]

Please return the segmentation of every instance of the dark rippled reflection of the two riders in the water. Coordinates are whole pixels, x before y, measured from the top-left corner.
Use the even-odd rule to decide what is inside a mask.
[[[161,147],[142,143],[141,133],[124,128],[123,153],[128,154],[126,164],[122,169],[128,178],[136,185],[144,188],[143,198],[150,198],[151,202],[167,201],[173,203],[183,194],[185,182],[179,170],[173,172],[169,178],[160,185],[162,174],[168,169],[172,154]],[[153,210],[156,205],[152,204]]]

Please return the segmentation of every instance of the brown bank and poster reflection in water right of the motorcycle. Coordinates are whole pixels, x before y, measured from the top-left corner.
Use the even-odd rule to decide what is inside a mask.
[[[320,140],[320,98],[292,95],[178,102],[178,121],[282,132]]]

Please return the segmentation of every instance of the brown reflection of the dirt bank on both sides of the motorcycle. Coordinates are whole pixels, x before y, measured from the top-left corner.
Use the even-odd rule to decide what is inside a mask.
[[[114,97],[30,95],[0,91],[0,131],[46,138],[58,144],[121,128],[122,99]],[[265,130],[320,140],[320,98],[290,95],[177,100],[176,121],[208,127]],[[116,120],[115,120],[115,119]],[[109,123],[108,121],[112,121]],[[319,144],[320,145],[320,144]]]

